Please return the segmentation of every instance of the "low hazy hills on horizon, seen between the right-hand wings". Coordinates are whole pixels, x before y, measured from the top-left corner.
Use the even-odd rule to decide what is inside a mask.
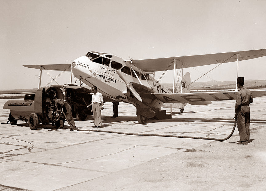
[[[173,89],[173,83],[163,83],[163,85],[169,89]],[[236,81],[208,81],[208,82],[194,82],[190,85],[190,88],[232,88],[236,87]],[[245,80],[244,87],[265,87],[266,80],[247,79]]]

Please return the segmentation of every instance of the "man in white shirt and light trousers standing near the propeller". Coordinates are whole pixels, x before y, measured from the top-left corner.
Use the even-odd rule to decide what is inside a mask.
[[[94,120],[94,126],[92,127],[101,127],[101,110],[103,110],[103,97],[102,94],[97,91],[97,87],[93,86],[91,88],[93,95],[91,97],[91,104],[93,112],[93,120]]]

